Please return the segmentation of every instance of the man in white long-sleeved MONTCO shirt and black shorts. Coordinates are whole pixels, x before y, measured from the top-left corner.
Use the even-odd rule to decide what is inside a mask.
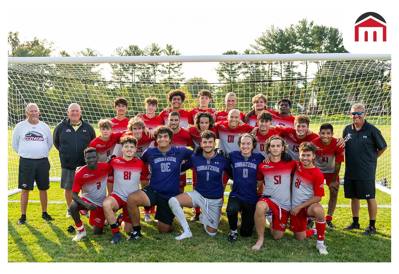
[[[41,217],[54,221],[47,214],[47,189],[50,187],[48,160],[53,146],[49,126],[39,121],[40,110],[36,104],[28,104],[25,110],[28,119],[19,122],[12,132],[12,148],[20,156],[18,169],[18,188],[21,189],[21,218],[17,225],[26,223],[26,207],[29,191],[33,190],[34,181],[39,189]]]

